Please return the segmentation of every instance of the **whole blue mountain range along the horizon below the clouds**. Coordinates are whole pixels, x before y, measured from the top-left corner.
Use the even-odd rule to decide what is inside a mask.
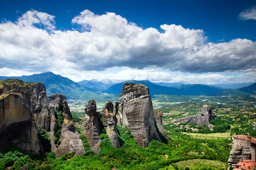
[[[52,72],[44,72],[41,74],[33,74],[30,76],[21,77],[3,77],[5,79],[21,79],[25,82],[41,82],[47,88],[47,94],[60,93],[65,95],[68,99],[111,99],[118,96],[123,88],[125,82],[140,83],[149,88],[150,94],[166,94],[166,95],[250,95],[256,93],[256,83],[247,87],[238,89],[226,89],[226,84],[221,84],[222,87],[217,85],[204,85],[204,84],[190,84],[185,85],[182,83],[164,83],[164,82],[150,82],[148,80],[83,80],[74,82],[67,77],[53,74]],[[251,84],[251,83],[250,83]],[[248,85],[246,83],[239,83],[233,87],[241,87]],[[231,87],[232,85],[229,85]]]

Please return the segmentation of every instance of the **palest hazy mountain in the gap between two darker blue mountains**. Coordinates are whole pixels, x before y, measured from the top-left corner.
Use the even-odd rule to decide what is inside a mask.
[[[110,88],[112,85],[123,82],[124,80],[114,80],[114,79],[102,79],[102,80],[82,80],[77,82],[79,85],[92,88],[96,91],[105,91]]]

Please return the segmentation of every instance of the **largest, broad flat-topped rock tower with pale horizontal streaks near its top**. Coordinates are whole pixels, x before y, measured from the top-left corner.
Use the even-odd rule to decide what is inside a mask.
[[[154,121],[153,106],[148,87],[125,83],[119,96],[120,116],[141,147],[148,147],[151,139],[162,142]]]

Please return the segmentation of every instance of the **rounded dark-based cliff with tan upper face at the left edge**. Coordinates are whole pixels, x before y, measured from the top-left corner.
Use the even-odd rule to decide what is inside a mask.
[[[0,97],[0,149],[17,142],[17,147],[29,153],[45,155],[28,106],[24,96],[15,90]]]

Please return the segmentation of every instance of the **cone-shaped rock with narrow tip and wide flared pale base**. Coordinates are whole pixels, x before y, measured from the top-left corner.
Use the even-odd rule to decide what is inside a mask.
[[[58,96],[56,97],[57,99]],[[73,123],[70,108],[68,107],[66,100],[64,100],[63,103],[64,107],[62,115],[64,117],[64,122],[62,123],[60,136],[61,144],[55,150],[55,155],[57,158],[60,158],[63,154],[68,152],[75,152],[76,155],[83,155],[85,153],[83,143]]]

